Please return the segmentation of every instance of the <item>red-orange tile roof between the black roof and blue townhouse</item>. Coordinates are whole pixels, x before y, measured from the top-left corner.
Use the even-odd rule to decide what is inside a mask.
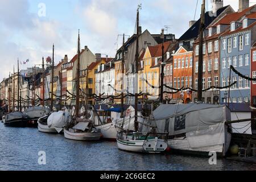
[[[246,13],[253,8],[254,6],[251,6],[241,12],[227,14],[223,18],[221,18],[217,23],[215,23],[212,27],[217,27],[218,24],[230,24],[233,21],[237,21],[240,18],[242,18],[242,16],[246,15]]]

